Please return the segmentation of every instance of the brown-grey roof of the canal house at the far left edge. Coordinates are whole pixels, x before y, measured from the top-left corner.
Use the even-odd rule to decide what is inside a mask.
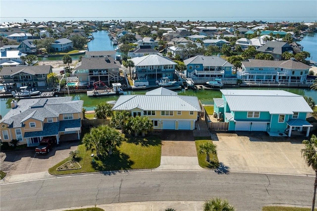
[[[39,65],[39,66],[15,66],[15,67],[3,67],[0,75],[15,75],[18,72],[25,72],[31,75],[35,74],[49,74],[52,72],[51,65]]]

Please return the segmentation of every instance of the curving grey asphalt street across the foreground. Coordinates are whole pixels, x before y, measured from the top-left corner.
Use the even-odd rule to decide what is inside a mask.
[[[0,210],[43,211],[145,201],[228,199],[237,211],[310,206],[314,177],[213,171],[132,171],[55,177],[0,186]]]

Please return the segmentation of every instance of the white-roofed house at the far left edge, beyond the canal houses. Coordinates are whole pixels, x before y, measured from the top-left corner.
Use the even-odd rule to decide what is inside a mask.
[[[0,48],[0,66],[12,66],[12,64],[18,65],[22,63],[21,56],[27,54],[21,53],[20,51],[8,51],[7,48]]]

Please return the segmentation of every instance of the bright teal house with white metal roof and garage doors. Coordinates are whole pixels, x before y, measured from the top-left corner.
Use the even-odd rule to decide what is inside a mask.
[[[220,90],[214,116],[228,122],[229,131],[266,131],[269,135],[291,136],[293,131],[309,136],[313,127],[306,121],[312,108],[303,96],[283,90]]]

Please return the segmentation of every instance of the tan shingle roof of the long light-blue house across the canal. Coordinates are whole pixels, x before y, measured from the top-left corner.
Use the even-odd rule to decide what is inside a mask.
[[[304,64],[300,61],[295,61],[292,59],[286,61],[273,61],[264,59],[249,59],[249,61],[241,62],[245,67],[280,67],[285,69],[310,69],[311,66]]]

